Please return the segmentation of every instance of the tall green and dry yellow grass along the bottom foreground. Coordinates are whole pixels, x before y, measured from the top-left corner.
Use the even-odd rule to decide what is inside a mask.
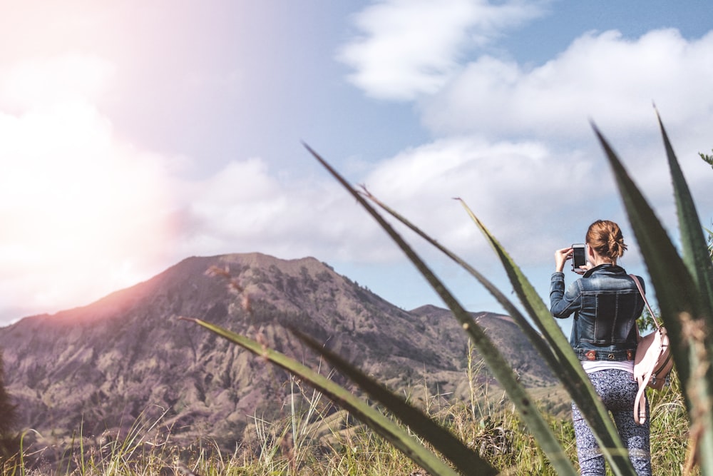
[[[475,381],[479,366],[468,375]],[[292,378],[293,390],[284,417],[266,420],[252,415],[252,439],[226,455],[217,445],[179,448],[157,436],[160,420],[140,417],[123,437],[93,440],[81,435],[56,448],[61,457],[37,467],[42,454],[4,462],[2,475],[426,475],[413,461],[368,427],[337,410],[311,388]],[[414,395],[424,390],[414,388]],[[533,393],[534,394],[534,393]],[[550,395],[548,399],[548,394]],[[448,400],[443,395],[421,398],[427,414],[478,452],[503,474],[555,475],[538,442],[515,407],[495,386],[473,387],[475,399]],[[540,410],[568,457],[576,461],[575,438],[568,403],[557,388],[538,389]],[[687,458],[686,408],[676,376],[660,393],[649,393],[652,408],[652,465],[660,474],[684,473]],[[424,408],[424,410],[426,410]],[[697,471],[693,475],[699,474]]]

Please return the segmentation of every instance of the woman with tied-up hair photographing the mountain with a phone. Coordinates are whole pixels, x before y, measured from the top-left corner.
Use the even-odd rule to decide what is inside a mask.
[[[627,246],[612,221],[592,223],[586,236],[587,265],[583,276],[565,291],[565,262],[572,248],[555,252],[555,273],[550,283],[550,312],[555,318],[574,314],[570,344],[585,373],[617,426],[637,475],[651,475],[649,407],[647,419],[637,425],[633,407],[638,385],[634,379],[637,345],[636,319],[644,308],[634,280],[617,265]],[[640,283],[643,281],[639,278]],[[604,457],[578,407],[572,405],[577,455],[582,475],[604,475]]]

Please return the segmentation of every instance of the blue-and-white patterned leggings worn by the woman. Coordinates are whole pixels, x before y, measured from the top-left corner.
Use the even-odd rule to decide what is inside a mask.
[[[638,476],[651,476],[651,455],[649,448],[649,402],[646,402],[646,423],[637,425],[634,421],[634,398],[638,390],[636,380],[625,370],[607,369],[589,374],[590,380],[602,397],[604,406],[614,416],[615,425],[625,447],[629,449],[629,459]],[[580,472],[587,476],[604,475],[604,456],[587,422],[577,405],[572,405],[572,420],[577,438],[577,456]]]

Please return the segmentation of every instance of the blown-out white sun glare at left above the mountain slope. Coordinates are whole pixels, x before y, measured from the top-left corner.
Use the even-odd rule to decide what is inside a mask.
[[[47,69],[76,64],[50,61],[19,76],[52,78]],[[145,263],[170,233],[162,158],[118,141],[91,94],[80,94],[86,78],[63,71],[61,79],[55,91],[42,83],[38,103],[11,76],[0,103],[0,264],[16,276],[1,292],[33,311],[89,303],[147,278]]]

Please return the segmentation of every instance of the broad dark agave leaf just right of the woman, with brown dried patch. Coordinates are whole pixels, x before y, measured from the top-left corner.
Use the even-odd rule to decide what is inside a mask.
[[[684,396],[692,425],[692,447],[697,448],[702,474],[713,475],[713,414],[709,403],[713,392],[713,346],[709,331],[712,318],[707,312],[709,296],[704,296],[707,292],[704,288],[706,284],[696,283],[692,278],[689,268],[678,255],[660,221],[616,153],[596,127],[595,132],[614,171],[629,221],[656,290],[661,318],[670,335],[674,362],[681,382],[684,383]],[[678,168],[673,153],[669,160],[674,163],[674,168]],[[674,181],[679,181],[677,195],[686,194],[687,187],[682,188],[682,183],[685,183],[683,176],[674,178]],[[687,200],[677,198],[679,203]],[[687,206],[684,205],[684,208]],[[684,226],[690,230],[690,211],[684,211],[684,214]],[[693,238],[687,240],[687,246],[699,246]],[[693,250],[689,253],[699,254]]]

